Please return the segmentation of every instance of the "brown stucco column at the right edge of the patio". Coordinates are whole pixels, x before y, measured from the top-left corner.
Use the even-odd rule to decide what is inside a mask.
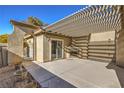
[[[124,67],[124,7],[121,6],[121,30],[117,31],[116,64]]]

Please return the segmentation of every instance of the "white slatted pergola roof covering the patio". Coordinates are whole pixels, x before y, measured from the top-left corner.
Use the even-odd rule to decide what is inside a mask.
[[[96,5],[81,9],[44,29],[65,36],[79,37],[89,33],[119,31],[121,6]]]

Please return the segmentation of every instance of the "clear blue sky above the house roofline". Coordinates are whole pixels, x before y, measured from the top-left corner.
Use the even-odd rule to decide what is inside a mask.
[[[84,5],[0,5],[0,34],[11,34],[13,26],[10,20],[25,21],[29,16],[37,17],[44,23],[51,24],[68,16],[81,8]]]

